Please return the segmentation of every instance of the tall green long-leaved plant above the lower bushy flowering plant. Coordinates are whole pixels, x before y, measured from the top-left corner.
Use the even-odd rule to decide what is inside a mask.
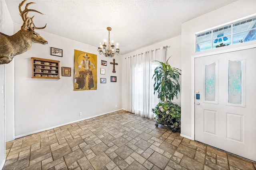
[[[180,84],[178,80],[180,79],[181,70],[178,68],[172,68],[168,64],[168,60],[166,63],[156,61],[160,63],[160,66],[156,67],[153,75],[155,80],[154,94],[157,92],[158,98],[162,102],[173,100],[174,97],[177,98],[178,92],[180,92]]]

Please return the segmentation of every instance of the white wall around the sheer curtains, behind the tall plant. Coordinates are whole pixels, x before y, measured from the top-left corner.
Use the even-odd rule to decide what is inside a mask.
[[[123,55],[123,57],[122,57],[122,63],[123,63],[122,64],[123,65],[123,68],[122,68],[122,77],[123,77],[123,80],[122,80],[122,87],[123,87],[122,88],[122,108],[124,108],[124,109],[126,108],[126,59],[125,58],[136,55],[136,54],[144,53],[145,51],[148,51],[148,50],[158,49],[163,46],[170,46],[170,48],[167,48],[167,54],[166,54],[167,59],[171,56],[168,63],[172,67],[181,69],[181,53],[180,53],[180,51],[181,51],[181,36],[177,36],[177,37],[174,37],[174,38],[162,41],[162,42],[158,42],[158,43],[155,43],[148,47],[138,49],[132,53]],[[181,74],[182,74],[182,72],[181,72]],[[180,94],[178,94],[178,100],[175,99],[174,101],[180,105],[180,101],[181,101]]]

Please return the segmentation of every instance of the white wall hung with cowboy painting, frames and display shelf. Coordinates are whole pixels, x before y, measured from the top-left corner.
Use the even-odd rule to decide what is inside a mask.
[[[14,24],[14,30],[20,29]],[[122,55],[116,59],[116,73],[112,73],[113,59],[98,54],[93,47],[37,30],[48,45],[34,44],[32,48],[15,57],[15,137],[21,137],[49,127],[56,127],[80,119],[94,117],[121,109],[122,107]],[[86,37],[84,37],[86,38]],[[50,47],[63,49],[63,57],[50,55]],[[97,56],[97,90],[74,91],[74,49]],[[60,75],[60,79],[31,78],[31,57],[60,61],[60,67],[71,67],[71,77]],[[107,61],[107,66],[101,65]],[[106,68],[106,74],[100,74]],[[110,76],[117,76],[117,82],[110,82]],[[106,78],[106,84],[100,84]],[[118,107],[115,107],[115,106]],[[79,116],[82,112],[82,116]]]

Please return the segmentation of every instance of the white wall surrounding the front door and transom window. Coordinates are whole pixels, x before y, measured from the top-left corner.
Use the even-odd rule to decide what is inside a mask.
[[[182,94],[181,94],[181,135],[192,137],[192,99],[194,98],[192,86],[192,56],[213,51],[221,51],[227,48],[238,47],[238,45],[227,46],[218,49],[194,52],[195,33],[210,29],[230,21],[237,20],[256,13],[255,0],[239,0],[218,10],[187,21],[182,24]],[[251,42],[255,43],[255,42]],[[244,43],[243,45],[245,45]]]

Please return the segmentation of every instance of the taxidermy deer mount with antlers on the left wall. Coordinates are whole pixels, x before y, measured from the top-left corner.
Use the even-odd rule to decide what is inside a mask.
[[[21,7],[25,2],[26,0],[22,1],[19,5],[20,16],[23,20],[20,31],[11,36],[0,33],[0,64],[10,63],[16,55],[28,51],[33,43],[48,44],[43,37],[34,31],[34,29],[44,29],[46,24],[44,27],[38,28],[33,22],[34,16],[32,18],[28,17],[28,12],[30,11],[38,12],[39,14],[42,13],[28,9],[29,5],[35,4],[34,2],[27,3],[25,9],[22,11]]]

